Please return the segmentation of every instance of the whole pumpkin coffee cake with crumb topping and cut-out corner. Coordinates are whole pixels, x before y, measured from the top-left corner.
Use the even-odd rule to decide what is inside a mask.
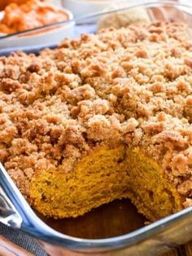
[[[192,205],[184,24],[105,29],[0,58],[0,161],[28,202],[76,217],[129,197],[151,221]]]

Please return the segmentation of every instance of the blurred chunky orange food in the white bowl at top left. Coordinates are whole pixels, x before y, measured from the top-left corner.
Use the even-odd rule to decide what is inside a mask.
[[[17,33],[46,24],[68,20],[68,14],[46,3],[31,0],[25,4],[9,4],[0,22],[1,33]]]

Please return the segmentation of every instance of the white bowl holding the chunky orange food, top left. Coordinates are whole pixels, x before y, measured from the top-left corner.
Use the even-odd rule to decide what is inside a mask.
[[[68,20],[73,19],[71,11],[60,8],[68,14]],[[0,17],[2,17],[1,11]],[[64,38],[71,38],[73,35],[74,22],[58,25],[54,28],[34,30],[30,33],[16,34],[10,38],[0,38],[0,48],[6,49],[17,46],[56,45]],[[0,33],[0,36],[6,35]]]

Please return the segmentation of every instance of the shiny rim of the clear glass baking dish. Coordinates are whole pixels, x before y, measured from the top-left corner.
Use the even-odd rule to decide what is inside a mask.
[[[136,4],[127,4],[126,7],[116,9],[113,11],[102,11],[95,13],[94,15],[86,15],[80,17],[76,20],[85,20],[98,15],[108,14],[116,11],[129,10],[134,7],[158,7],[162,5],[168,5],[172,7],[188,7],[192,10],[192,5],[183,4],[174,1],[145,1]],[[70,20],[70,22],[74,22]],[[68,22],[68,21],[67,21]],[[58,25],[58,24],[57,24]],[[44,28],[44,27],[43,27]],[[39,29],[39,28],[38,28]],[[41,28],[42,29],[42,28]],[[34,30],[34,29],[32,29]],[[31,31],[31,29],[30,29]],[[26,33],[26,32],[24,32]],[[11,35],[13,36],[13,35]],[[15,35],[14,35],[15,36]],[[192,216],[192,206],[181,210],[176,214],[172,214],[168,217],[162,218],[155,223],[151,223],[146,227],[138,228],[133,232],[126,233],[122,236],[114,236],[110,238],[103,239],[82,239],[74,236],[64,235],[60,232],[55,231],[46,223],[41,221],[40,218],[33,212],[28,202],[25,201],[24,196],[20,193],[19,189],[16,188],[15,183],[12,181],[11,177],[7,174],[2,164],[0,164],[0,186],[4,189],[7,196],[10,198],[11,202],[15,205],[16,210],[23,218],[23,223],[21,224],[20,230],[28,233],[29,235],[41,240],[46,241],[50,244],[59,245],[68,249],[117,249],[124,248],[129,245],[135,245],[140,241],[145,240],[147,237],[164,230],[164,228],[169,227],[172,223],[182,220],[188,216]]]

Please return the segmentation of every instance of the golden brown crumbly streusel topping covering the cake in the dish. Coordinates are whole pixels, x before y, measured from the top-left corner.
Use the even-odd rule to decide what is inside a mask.
[[[146,150],[191,204],[186,30],[131,25],[0,59],[0,160],[25,195],[37,170],[72,170],[82,154],[116,139]]]

